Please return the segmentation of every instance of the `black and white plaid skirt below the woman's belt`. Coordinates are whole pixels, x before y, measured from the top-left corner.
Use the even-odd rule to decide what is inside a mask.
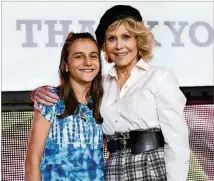
[[[105,162],[105,181],[166,181],[164,148],[132,154],[111,153]]]

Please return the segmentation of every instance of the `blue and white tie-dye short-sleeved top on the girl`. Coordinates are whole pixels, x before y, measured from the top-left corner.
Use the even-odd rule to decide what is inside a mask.
[[[89,109],[91,103],[79,104],[79,112],[64,119],[56,116],[64,111],[62,100],[39,105],[51,124],[40,164],[42,181],[104,180],[102,128]]]

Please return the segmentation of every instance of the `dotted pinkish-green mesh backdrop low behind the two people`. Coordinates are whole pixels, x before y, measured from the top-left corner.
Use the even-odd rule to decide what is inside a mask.
[[[188,181],[214,180],[214,105],[188,105],[184,116],[190,133]],[[2,117],[2,181],[24,181],[24,158],[32,111],[4,111]],[[108,154],[104,152],[105,158]]]

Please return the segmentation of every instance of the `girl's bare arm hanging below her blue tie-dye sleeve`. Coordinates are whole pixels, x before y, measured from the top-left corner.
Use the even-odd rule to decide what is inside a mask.
[[[42,114],[35,111],[25,158],[26,181],[41,181],[40,161],[50,127]]]

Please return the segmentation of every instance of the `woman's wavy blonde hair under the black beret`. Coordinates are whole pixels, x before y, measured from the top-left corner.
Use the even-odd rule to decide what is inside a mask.
[[[144,25],[143,22],[137,22],[132,18],[117,20],[112,23],[106,32],[116,30],[121,24],[124,24],[131,35],[134,35],[137,42],[139,58],[149,62],[153,55],[152,50],[155,46],[153,33]],[[105,41],[102,50],[105,51]]]

